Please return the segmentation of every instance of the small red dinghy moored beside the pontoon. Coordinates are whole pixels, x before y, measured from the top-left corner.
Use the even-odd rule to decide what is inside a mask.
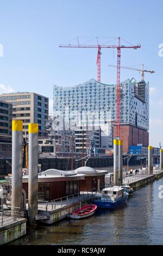
[[[80,209],[76,209],[70,213],[70,218],[79,219],[92,216],[97,209],[95,204],[87,204]]]

